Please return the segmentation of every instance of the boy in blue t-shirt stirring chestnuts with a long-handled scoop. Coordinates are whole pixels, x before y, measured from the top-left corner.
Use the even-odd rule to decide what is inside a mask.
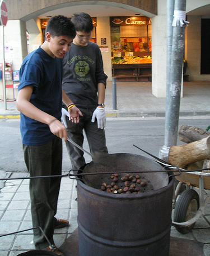
[[[21,112],[20,129],[24,159],[30,176],[54,176],[62,173],[62,138],[67,132],[60,122],[62,101],[68,108],[69,119],[78,123],[81,111],[72,104],[62,89],[62,58],[69,50],[76,30],[64,16],[48,21],[45,42],[26,56],[20,69],[17,109]],[[55,218],[60,188],[58,178],[30,179],[31,215],[36,249],[54,251],[54,228],[68,226],[68,221]]]

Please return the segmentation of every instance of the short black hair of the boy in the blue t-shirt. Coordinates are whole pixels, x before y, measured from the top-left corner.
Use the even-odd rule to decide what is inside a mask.
[[[63,15],[54,16],[49,19],[46,25],[45,33],[49,32],[52,37],[60,37],[65,35],[69,38],[76,37],[76,29],[71,20]]]

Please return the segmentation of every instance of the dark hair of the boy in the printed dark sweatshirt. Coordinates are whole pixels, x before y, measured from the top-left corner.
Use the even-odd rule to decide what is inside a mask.
[[[76,31],[85,31],[86,33],[90,33],[94,29],[91,16],[85,12],[73,14],[71,21],[74,24]]]

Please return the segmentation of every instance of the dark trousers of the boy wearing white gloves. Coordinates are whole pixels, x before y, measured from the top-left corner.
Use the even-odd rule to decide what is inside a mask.
[[[95,109],[83,109],[80,107],[83,116],[80,116],[80,123],[74,124],[66,118],[67,122],[67,133],[72,141],[76,142],[82,147],[84,136],[83,130],[85,131],[88,145],[91,154],[94,152],[105,152],[108,153],[106,147],[106,138],[104,129],[97,128],[97,120],[91,122],[92,113]],[[85,158],[83,157],[83,151],[74,146],[71,142],[66,142],[69,157],[72,163],[72,169],[80,169],[86,164]]]

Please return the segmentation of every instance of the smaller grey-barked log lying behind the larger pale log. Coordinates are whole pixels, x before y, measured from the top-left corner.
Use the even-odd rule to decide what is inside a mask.
[[[198,127],[188,126],[186,124],[181,125],[178,133],[179,140],[185,143],[199,141],[208,136],[210,136],[209,132]]]

